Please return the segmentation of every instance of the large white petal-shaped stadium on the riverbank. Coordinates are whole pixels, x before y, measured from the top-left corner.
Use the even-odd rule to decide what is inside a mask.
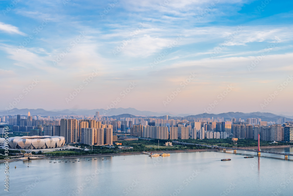
[[[22,136],[8,139],[12,149],[49,149],[60,148],[65,144],[65,138],[60,136]]]

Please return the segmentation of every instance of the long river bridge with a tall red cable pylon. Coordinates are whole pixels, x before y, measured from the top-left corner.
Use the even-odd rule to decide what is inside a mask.
[[[234,153],[235,154],[236,154],[236,150],[243,150],[243,151],[256,152],[257,155],[260,155],[260,153],[268,153],[268,154],[275,154],[275,155],[285,155],[285,159],[286,160],[288,159],[288,156],[293,156],[293,154],[260,151],[260,137],[259,137],[259,134],[258,134],[258,150],[249,150],[249,149],[241,149],[241,148],[230,148],[230,147],[223,147],[223,146],[194,144],[194,143],[185,143],[185,142],[177,142],[177,141],[172,141],[172,142],[173,143],[176,143],[176,144],[181,144],[181,145],[197,145],[197,146],[203,146],[203,147],[208,147],[208,148],[219,148],[219,149],[223,149],[224,152],[226,152],[226,149],[229,149],[229,150],[234,150]]]

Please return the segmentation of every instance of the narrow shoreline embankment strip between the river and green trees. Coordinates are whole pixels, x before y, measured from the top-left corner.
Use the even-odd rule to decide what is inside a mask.
[[[286,145],[286,146],[266,146],[262,148],[285,148],[285,147],[293,147],[292,145]],[[257,148],[257,146],[254,147],[243,147],[241,149],[253,149]],[[226,149],[230,150],[230,149]],[[152,153],[186,153],[186,152],[200,152],[200,151],[221,151],[220,149],[194,149],[194,150],[163,150],[163,151],[149,151]],[[39,160],[39,159],[63,159],[63,158],[79,158],[79,157],[98,157],[98,156],[117,156],[117,155],[139,155],[144,154],[143,152],[132,152],[132,153],[112,153],[112,154],[92,154],[92,155],[73,155],[73,156],[60,156],[60,157],[42,157],[42,158],[28,158],[28,159],[20,159],[20,158],[13,158],[8,160],[8,162],[13,161],[27,161],[27,160]],[[7,159],[6,159],[7,160]],[[0,163],[6,162],[6,160],[0,160]]]

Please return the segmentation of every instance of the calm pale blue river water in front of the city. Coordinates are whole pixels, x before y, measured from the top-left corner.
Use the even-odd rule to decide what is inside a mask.
[[[293,154],[293,148],[274,150]],[[237,153],[245,154],[227,150],[72,158],[81,159],[76,163],[11,162],[9,193],[1,185],[0,195],[292,195],[293,157]],[[250,155],[255,157],[243,158]],[[0,169],[3,183],[3,164]]]

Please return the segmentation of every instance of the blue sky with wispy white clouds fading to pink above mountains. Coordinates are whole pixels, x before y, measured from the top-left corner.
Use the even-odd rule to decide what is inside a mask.
[[[293,1],[0,1],[0,110],[293,115]]]

